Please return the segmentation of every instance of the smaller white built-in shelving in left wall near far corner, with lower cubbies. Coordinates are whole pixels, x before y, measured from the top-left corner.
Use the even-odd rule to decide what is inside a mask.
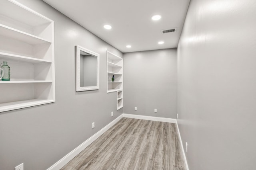
[[[120,98],[123,90],[123,59],[110,51],[107,51],[107,93],[117,92],[117,109],[123,107],[123,96]],[[114,75],[114,82],[112,76]]]

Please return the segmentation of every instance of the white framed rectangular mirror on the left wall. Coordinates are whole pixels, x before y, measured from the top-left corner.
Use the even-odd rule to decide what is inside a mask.
[[[98,90],[100,84],[100,55],[76,46],[76,92]]]

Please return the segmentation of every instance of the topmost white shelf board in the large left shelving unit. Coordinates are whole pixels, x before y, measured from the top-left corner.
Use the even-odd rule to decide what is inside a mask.
[[[38,45],[38,44],[44,44],[44,43],[51,43],[50,41],[37,37],[35,35],[20,31],[18,29],[14,29],[11,27],[8,27],[6,25],[0,24],[0,35],[12,39],[16,39],[18,41],[23,41],[25,43],[28,43],[30,45]]]

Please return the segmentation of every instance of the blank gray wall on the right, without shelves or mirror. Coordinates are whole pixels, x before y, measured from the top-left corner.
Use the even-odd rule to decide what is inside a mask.
[[[190,170],[255,169],[255,9],[255,0],[190,2],[177,107]]]

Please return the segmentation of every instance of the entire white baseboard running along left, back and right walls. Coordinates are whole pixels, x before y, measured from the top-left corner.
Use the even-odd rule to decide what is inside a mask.
[[[186,164],[186,169],[189,170],[188,169],[188,163],[187,163],[186,156],[185,156],[185,152],[184,152],[184,148],[183,148],[183,145],[182,145],[182,140],[181,140],[181,137],[180,137],[180,131],[179,131],[178,123],[177,123],[176,119],[164,118],[164,117],[144,116],[144,115],[132,115],[132,114],[124,114],[124,113],[122,115],[120,115],[119,117],[117,117],[116,119],[114,119],[108,125],[103,127],[100,131],[95,133],[92,137],[90,137],[89,139],[84,141],[84,143],[82,143],[81,145],[76,147],[76,149],[72,150],[66,156],[61,158],[58,162],[56,162],[54,165],[52,165],[47,170],[60,170],[60,168],[62,168],[70,160],[72,160],[74,157],[76,157],[76,155],[78,155],[80,152],[82,152],[82,150],[84,150],[86,147],[88,147],[93,141],[95,141],[98,137],[100,137],[100,135],[102,135],[108,129],[110,129],[110,127],[112,127],[115,123],[117,123],[120,119],[122,119],[122,117],[152,120],[152,121],[162,121],[162,122],[168,122],[168,123],[176,123],[177,129],[178,129],[178,135],[179,135],[179,138],[180,138],[180,144],[181,144],[181,147],[182,147],[182,153],[183,153],[184,161],[185,161],[185,164]]]

